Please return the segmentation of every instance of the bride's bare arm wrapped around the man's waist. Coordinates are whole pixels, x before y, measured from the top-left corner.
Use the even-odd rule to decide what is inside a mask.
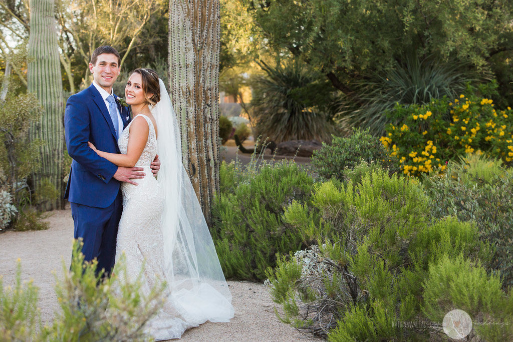
[[[109,160],[112,164],[131,168],[135,166],[137,160],[143,153],[146,142],[148,141],[149,127],[148,123],[144,118],[133,119],[132,124],[129,128],[130,136],[128,138],[127,153],[109,153],[104,151],[98,151],[91,142],[89,147],[94,150],[99,156]]]

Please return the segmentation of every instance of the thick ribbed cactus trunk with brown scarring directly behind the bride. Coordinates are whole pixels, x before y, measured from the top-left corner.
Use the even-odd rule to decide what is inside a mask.
[[[183,164],[211,223],[219,191],[219,0],[170,0],[169,65]]]

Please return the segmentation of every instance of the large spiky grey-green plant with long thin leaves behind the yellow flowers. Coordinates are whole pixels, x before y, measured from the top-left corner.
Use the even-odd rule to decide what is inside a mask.
[[[466,84],[476,82],[468,68],[455,61],[445,63],[429,56],[420,60],[416,53],[408,52],[404,65],[394,61],[386,74],[378,73],[370,80],[358,84],[362,103],[343,102],[338,119],[352,127],[368,127],[373,134],[383,134],[391,119],[386,115],[397,106],[428,104],[444,96],[455,98],[466,90]],[[393,122],[398,124],[398,122]]]

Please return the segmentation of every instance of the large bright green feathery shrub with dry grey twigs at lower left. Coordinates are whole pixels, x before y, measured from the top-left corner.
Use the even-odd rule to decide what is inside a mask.
[[[294,201],[284,217],[318,246],[267,270],[270,294],[283,307],[280,319],[331,341],[440,334],[397,322],[429,326],[420,299],[432,263],[460,254],[487,260],[490,248],[475,225],[454,217],[431,222],[430,210],[420,183],[383,170],[365,173],[359,184],[316,185],[310,202]]]

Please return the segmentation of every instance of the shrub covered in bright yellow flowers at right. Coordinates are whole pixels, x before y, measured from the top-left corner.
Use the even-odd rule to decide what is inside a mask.
[[[401,124],[389,124],[380,142],[406,175],[444,171],[449,160],[472,152],[513,165],[513,113],[495,108],[492,99],[461,94],[452,101],[398,105],[393,115]]]

